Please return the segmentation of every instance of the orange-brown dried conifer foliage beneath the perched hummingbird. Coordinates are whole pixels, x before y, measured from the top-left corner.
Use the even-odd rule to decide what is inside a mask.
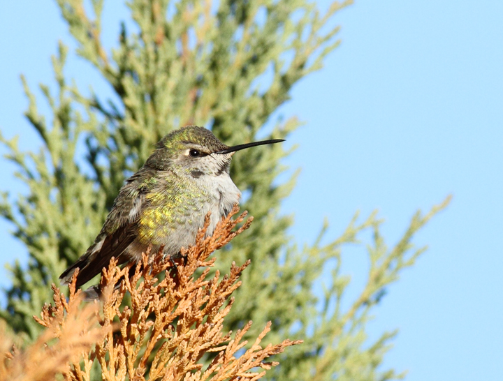
[[[161,253],[145,253],[143,261],[136,265],[134,275],[129,278],[129,270],[134,265],[120,269],[112,260],[101,276],[100,304],[95,302],[79,309],[81,291],[75,290],[73,283],[68,302],[54,287],[54,306],[45,306],[41,318],[37,318],[40,324],[48,327],[48,331],[33,348],[37,351],[42,343],[59,338],[59,347],[54,345],[50,350],[50,363],[54,363],[51,374],[62,373],[66,380],[90,381],[92,364],[98,361],[101,377],[110,381],[251,381],[261,378],[266,369],[277,365],[277,362],[265,362],[265,359],[301,341],[285,340],[263,348],[260,343],[270,330],[269,322],[253,345],[245,350],[247,341],[243,341],[243,336],[251,322],[233,337],[231,332],[223,332],[224,318],[233,305],[231,294],[240,286],[238,278],[249,260],[242,266],[233,263],[229,274],[223,278],[216,271],[207,279],[216,260],[215,257],[208,259],[210,254],[246,230],[252,221],[251,217],[248,218],[235,230],[247,215],[245,212],[238,218],[231,218],[238,211],[239,208],[234,207],[231,214],[217,225],[212,237],[205,238],[209,224],[207,216],[205,227],[198,232],[196,245],[183,250],[182,254],[187,257],[177,260],[176,267]],[[203,268],[202,274],[196,277],[195,272],[200,267]],[[166,276],[159,277],[164,271]],[[117,284],[120,286],[115,286]],[[123,299],[128,293],[131,306],[123,307]],[[99,321],[99,329],[93,328],[96,321]],[[209,352],[216,353],[207,355]],[[22,361],[30,358],[26,357],[27,353],[14,354],[8,361],[12,364],[0,371],[22,369]],[[0,373],[0,379],[15,378],[4,378]],[[48,378],[34,378],[29,374],[18,379]]]

